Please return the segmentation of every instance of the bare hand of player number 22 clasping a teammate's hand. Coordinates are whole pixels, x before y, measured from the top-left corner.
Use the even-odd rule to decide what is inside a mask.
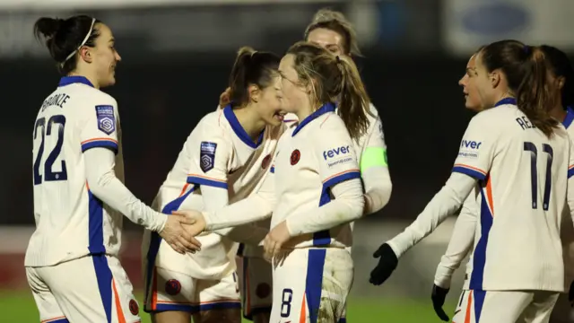
[[[182,215],[170,215],[163,230],[159,232],[160,236],[170,244],[172,249],[180,254],[185,254],[186,252],[195,253],[201,249],[201,242],[196,240],[183,227],[183,225],[193,224],[193,222],[192,219],[187,219]]]

